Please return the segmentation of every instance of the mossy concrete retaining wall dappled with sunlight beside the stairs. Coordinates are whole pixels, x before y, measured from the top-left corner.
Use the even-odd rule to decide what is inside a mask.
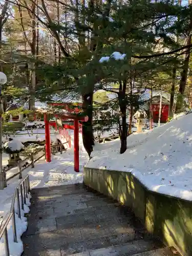
[[[130,206],[150,233],[192,256],[192,202],[154,193],[131,173],[84,167],[84,184]]]

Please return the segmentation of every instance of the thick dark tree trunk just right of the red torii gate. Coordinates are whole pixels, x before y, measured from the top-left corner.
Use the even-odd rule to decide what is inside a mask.
[[[93,93],[84,94],[82,96],[82,109],[89,117],[88,122],[82,123],[82,140],[84,148],[89,157],[93,151],[94,136],[93,136]]]

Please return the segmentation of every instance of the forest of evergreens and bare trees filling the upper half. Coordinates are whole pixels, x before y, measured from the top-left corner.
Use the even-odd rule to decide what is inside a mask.
[[[35,111],[35,101],[81,100],[90,156],[96,110],[116,110],[102,125],[118,125],[123,154],[146,91],[169,93],[169,119],[191,108],[191,32],[191,0],[3,0],[3,111],[9,102],[16,115]]]

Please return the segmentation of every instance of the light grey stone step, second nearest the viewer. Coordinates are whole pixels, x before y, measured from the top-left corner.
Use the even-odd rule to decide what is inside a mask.
[[[117,244],[114,246],[90,249],[88,251],[82,251],[80,253],[67,254],[65,250],[61,248],[61,255],[65,256],[129,256],[133,254],[143,253],[151,250],[156,250],[160,247],[159,243],[155,243],[152,240],[134,240],[128,243]],[[156,255],[155,255],[156,256]]]

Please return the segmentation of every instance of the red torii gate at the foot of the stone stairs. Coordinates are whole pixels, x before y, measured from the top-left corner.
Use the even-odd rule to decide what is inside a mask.
[[[56,118],[62,120],[72,119],[74,121],[74,170],[79,172],[79,121],[87,122],[88,116],[82,117],[77,114],[65,113],[65,114],[55,114]],[[46,138],[46,161],[51,162],[51,140],[50,140],[50,130],[49,130],[49,119],[48,114],[44,114],[45,121],[45,138]]]

